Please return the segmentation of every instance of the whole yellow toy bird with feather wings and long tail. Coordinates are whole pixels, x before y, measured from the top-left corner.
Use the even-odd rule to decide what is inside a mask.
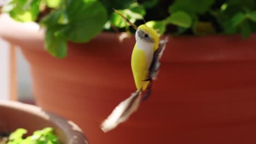
[[[115,10],[115,9],[114,9]],[[136,44],[132,51],[131,68],[137,91],[122,101],[107,119],[101,124],[104,132],[114,129],[118,124],[126,121],[129,116],[138,109],[141,100],[146,100],[152,89],[152,82],[158,75],[159,59],[165,50],[167,38],[159,40],[158,33],[146,24],[135,26],[125,16],[115,10],[125,21],[136,29]],[[145,95],[142,98],[142,91]]]

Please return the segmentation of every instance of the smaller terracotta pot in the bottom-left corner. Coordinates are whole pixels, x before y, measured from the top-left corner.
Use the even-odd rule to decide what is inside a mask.
[[[53,113],[43,111],[37,106],[14,101],[0,101],[0,133],[11,133],[25,128],[29,134],[46,127],[54,128],[54,133],[62,143],[89,143],[80,128]]]

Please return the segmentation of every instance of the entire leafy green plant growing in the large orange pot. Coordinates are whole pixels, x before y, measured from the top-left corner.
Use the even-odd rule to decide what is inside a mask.
[[[138,7],[139,5],[139,7]],[[45,48],[67,55],[67,41],[86,43],[101,31],[135,32],[113,8],[136,25],[147,21],[159,34],[237,34],[256,31],[254,0],[9,0],[3,11],[14,20],[45,27]]]

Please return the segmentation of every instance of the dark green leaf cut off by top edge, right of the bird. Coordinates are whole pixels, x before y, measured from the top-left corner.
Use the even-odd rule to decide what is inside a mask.
[[[206,13],[214,3],[214,0],[177,0],[169,7],[169,13],[186,11],[188,14]]]

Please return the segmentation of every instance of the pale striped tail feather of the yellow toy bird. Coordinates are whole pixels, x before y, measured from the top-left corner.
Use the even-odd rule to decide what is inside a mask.
[[[101,129],[107,133],[118,124],[125,122],[138,109],[139,103],[141,103],[141,91],[138,90],[115,107],[108,118],[102,122]]]

